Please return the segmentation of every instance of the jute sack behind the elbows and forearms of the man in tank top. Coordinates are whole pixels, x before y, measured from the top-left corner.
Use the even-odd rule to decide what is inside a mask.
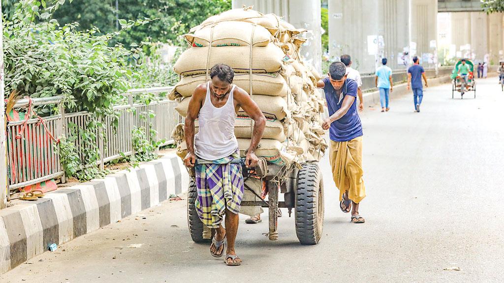
[[[254,120],[248,117],[237,117],[234,124],[234,135],[237,138],[251,138],[254,126]],[[200,131],[200,123],[198,120],[195,122],[195,133]],[[263,138],[276,139],[279,142],[284,142],[287,137],[285,136],[284,127],[280,121],[274,119],[267,119],[266,126],[264,127]]]

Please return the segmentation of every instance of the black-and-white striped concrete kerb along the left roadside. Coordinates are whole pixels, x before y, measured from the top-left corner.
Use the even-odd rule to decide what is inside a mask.
[[[0,274],[47,251],[185,192],[189,176],[174,153],[102,179],[0,210]]]

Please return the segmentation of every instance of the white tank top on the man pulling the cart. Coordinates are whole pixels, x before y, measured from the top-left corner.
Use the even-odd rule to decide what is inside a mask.
[[[204,160],[217,160],[238,151],[238,141],[234,135],[236,112],[234,109],[233,85],[226,104],[215,107],[210,99],[210,82],[207,96],[200,109],[200,130],[194,137],[196,155]]]

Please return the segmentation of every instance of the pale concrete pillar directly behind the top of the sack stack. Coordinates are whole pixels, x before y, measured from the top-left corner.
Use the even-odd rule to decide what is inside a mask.
[[[308,40],[301,46],[301,56],[316,67],[322,68],[321,3],[319,0],[233,0],[232,7],[254,6],[263,14],[276,14],[296,28],[308,30],[303,36]]]

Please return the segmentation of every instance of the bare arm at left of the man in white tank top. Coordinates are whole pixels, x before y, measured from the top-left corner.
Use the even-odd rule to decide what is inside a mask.
[[[186,167],[194,167],[196,163],[196,153],[194,151],[194,132],[195,121],[200,114],[200,109],[203,106],[203,101],[207,94],[206,85],[198,86],[194,92],[189,105],[187,107],[187,116],[185,116],[184,135],[185,144],[187,145],[187,154],[183,160]]]

